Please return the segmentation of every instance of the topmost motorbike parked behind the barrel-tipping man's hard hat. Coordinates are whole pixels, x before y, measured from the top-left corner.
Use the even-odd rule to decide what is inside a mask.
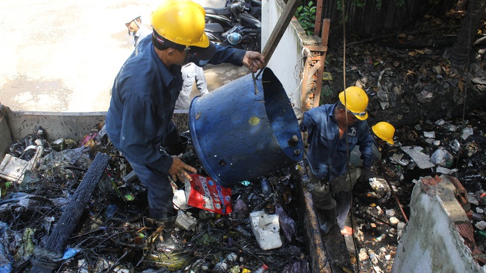
[[[248,0],[248,1],[260,1],[260,0]],[[261,1],[260,1],[261,5]],[[221,26],[228,31],[228,29],[233,28],[236,24],[242,24],[243,26],[253,26],[260,24],[260,20],[253,16],[248,11],[249,4],[242,0],[231,0],[231,2],[226,3],[225,8],[210,8],[205,7],[206,12],[205,19],[207,24],[221,24]],[[261,15],[261,7],[252,8],[253,12],[259,13],[257,16]],[[258,11],[260,10],[260,11]]]

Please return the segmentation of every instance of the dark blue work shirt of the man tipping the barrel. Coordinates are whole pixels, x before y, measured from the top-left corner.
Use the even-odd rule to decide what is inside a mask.
[[[216,46],[209,61],[189,59],[199,66],[206,63],[242,65],[246,52]],[[113,83],[110,107],[105,119],[113,145],[128,161],[167,173],[173,159],[160,152],[164,135],[182,88],[180,65],[166,68],[149,38],[142,39],[125,61]]]

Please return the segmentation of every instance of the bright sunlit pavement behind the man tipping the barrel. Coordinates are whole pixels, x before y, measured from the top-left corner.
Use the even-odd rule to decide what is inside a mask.
[[[224,6],[224,0],[195,0]],[[125,22],[157,1],[0,1],[0,102],[22,111],[106,111],[113,79],[132,53]],[[205,68],[211,90],[246,68]]]

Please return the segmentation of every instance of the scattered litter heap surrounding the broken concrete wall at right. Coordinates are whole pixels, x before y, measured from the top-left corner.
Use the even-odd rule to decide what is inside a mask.
[[[485,253],[485,109],[472,111],[465,118],[423,120],[414,126],[397,128],[395,145],[382,150],[382,166],[373,166],[376,176],[370,179],[370,185],[354,187],[352,213],[348,217],[356,243],[356,249],[348,247],[354,272],[358,268],[359,272],[391,271],[408,221],[411,191],[425,176],[447,174],[460,181],[469,201],[463,208],[470,208],[467,214],[474,227],[474,239]]]

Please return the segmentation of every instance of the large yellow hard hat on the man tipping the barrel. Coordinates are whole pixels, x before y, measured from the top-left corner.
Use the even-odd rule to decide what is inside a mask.
[[[208,47],[204,32],[205,10],[191,0],[164,0],[150,14],[154,31],[178,45]]]

